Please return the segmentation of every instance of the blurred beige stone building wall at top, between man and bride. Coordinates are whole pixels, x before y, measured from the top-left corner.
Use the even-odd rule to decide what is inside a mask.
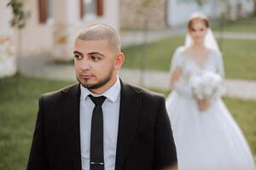
[[[121,28],[143,28],[148,20],[148,28],[166,27],[167,0],[153,0],[146,10],[140,7],[144,0],[120,0],[119,22]]]

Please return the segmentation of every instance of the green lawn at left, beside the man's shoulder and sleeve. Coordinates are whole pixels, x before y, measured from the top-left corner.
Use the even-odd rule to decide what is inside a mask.
[[[38,97],[67,84],[26,77],[0,79],[0,169],[25,169]]]

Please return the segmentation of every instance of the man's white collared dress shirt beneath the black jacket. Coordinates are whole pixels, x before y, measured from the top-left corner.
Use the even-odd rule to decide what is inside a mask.
[[[119,77],[111,88],[105,91],[103,96],[107,99],[102,104],[103,111],[103,147],[105,170],[114,170],[119,126],[119,104],[120,104],[120,82]],[[94,103],[88,97],[100,96],[92,94],[87,88],[80,85],[80,142],[82,169],[90,170],[90,125]]]

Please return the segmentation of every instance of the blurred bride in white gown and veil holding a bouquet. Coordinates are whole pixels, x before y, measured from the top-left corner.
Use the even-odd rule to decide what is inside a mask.
[[[183,47],[172,58],[172,122],[179,170],[255,170],[241,129],[220,98],[224,67],[207,18],[192,14]]]

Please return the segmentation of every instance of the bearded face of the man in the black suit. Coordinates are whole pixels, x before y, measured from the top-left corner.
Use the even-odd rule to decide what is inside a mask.
[[[76,39],[74,43],[76,77],[93,93],[101,94],[116,81],[123,60],[119,62],[120,54],[114,54],[111,49],[108,40]]]

